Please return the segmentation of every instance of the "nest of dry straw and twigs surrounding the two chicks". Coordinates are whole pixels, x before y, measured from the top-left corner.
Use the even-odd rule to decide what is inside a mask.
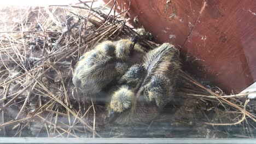
[[[1,23],[1,136],[15,137],[206,137],[253,138],[255,100],[225,95],[181,71],[176,103],[148,124],[109,125],[105,107],[86,101],[72,83],[79,57],[104,40],[138,35],[147,50],[158,46],[129,26],[127,10],[92,5],[20,11]],[[81,97],[82,94],[83,96]],[[81,99],[82,98],[82,99]]]

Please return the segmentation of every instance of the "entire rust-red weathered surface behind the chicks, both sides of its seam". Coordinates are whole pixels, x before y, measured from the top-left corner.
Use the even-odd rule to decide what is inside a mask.
[[[109,0],[104,0],[108,2]],[[118,0],[119,11],[130,0]],[[159,43],[181,50],[185,69],[218,85],[240,92],[256,81],[256,1],[139,1],[127,14],[138,17]]]

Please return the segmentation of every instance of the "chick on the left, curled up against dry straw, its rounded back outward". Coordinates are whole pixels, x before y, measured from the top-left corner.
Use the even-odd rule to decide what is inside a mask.
[[[73,83],[84,93],[99,93],[135,63],[142,62],[144,51],[136,40],[104,41],[79,58]],[[132,59],[132,60],[129,60]]]

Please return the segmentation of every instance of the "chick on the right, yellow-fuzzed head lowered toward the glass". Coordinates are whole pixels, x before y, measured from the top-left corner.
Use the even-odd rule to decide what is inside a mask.
[[[179,51],[168,43],[147,53],[121,77],[107,106],[109,122],[147,123],[173,99],[178,77]]]

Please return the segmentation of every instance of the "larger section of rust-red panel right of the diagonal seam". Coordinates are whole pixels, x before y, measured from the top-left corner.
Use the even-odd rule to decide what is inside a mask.
[[[189,69],[239,92],[256,80],[256,1],[207,1],[184,44]],[[194,60],[196,58],[196,60]]]

